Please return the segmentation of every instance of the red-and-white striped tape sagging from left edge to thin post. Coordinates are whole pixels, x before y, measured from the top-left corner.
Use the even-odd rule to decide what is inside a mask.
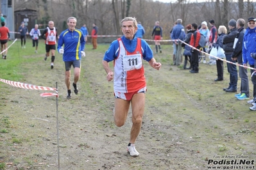
[[[6,84],[9,84],[11,86],[14,86],[16,88],[23,88],[23,89],[37,89],[37,90],[48,90],[48,91],[56,91],[58,93],[58,89],[56,88],[49,88],[49,87],[44,87],[44,86],[35,86],[32,84],[26,84],[23,82],[16,82],[16,81],[8,81],[5,79],[0,79],[1,82],[4,82]]]

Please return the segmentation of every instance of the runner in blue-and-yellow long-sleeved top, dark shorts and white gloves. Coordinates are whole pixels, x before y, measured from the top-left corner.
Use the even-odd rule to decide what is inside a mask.
[[[71,98],[71,66],[74,67],[74,93],[78,94],[76,83],[80,77],[81,56],[85,56],[85,38],[80,29],[76,29],[76,18],[69,17],[67,19],[68,29],[62,31],[58,40],[58,52],[63,54],[65,63],[65,84],[67,86],[67,98]],[[64,45],[64,48],[62,47]]]

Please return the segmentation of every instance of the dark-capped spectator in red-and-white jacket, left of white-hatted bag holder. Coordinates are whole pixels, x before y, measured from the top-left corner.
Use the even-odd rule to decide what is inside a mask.
[[[209,37],[209,42],[207,43],[208,45],[208,49],[211,49],[212,47],[212,43],[216,43],[217,41],[217,38],[218,38],[218,31],[217,31],[217,28],[216,26],[214,26],[214,20],[210,20],[209,21],[209,25],[210,25],[210,37]],[[210,53],[210,51],[208,51]],[[210,56],[209,56],[210,58]],[[216,60],[215,59],[211,59],[210,58],[210,61],[209,63],[207,63],[209,65],[215,65],[216,64]]]

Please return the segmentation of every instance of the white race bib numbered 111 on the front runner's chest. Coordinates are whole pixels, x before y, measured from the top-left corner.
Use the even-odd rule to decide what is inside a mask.
[[[142,67],[141,54],[123,56],[124,71],[139,70]]]

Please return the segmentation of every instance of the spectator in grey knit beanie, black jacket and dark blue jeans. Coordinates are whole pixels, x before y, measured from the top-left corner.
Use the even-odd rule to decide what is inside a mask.
[[[233,45],[235,37],[238,34],[237,28],[236,28],[237,22],[236,20],[232,19],[228,22],[228,28],[230,29],[230,32],[228,35],[223,36],[223,50],[225,51],[226,60],[230,61],[232,63],[235,63],[231,59],[232,53],[234,51]],[[226,63],[228,67],[228,73],[230,74],[230,82],[228,88],[223,88],[226,92],[236,92],[237,91],[237,66],[232,63]]]

